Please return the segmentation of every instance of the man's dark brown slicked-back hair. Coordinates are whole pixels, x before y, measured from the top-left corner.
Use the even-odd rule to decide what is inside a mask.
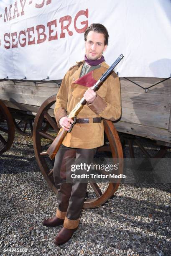
[[[90,26],[88,26],[88,28],[86,29],[85,33],[84,33],[84,40],[87,41],[87,35],[90,31],[94,31],[97,33],[102,33],[105,36],[105,45],[108,44],[108,39],[109,39],[109,34],[107,32],[107,29],[105,28],[105,26],[103,26],[100,23],[92,23]]]

